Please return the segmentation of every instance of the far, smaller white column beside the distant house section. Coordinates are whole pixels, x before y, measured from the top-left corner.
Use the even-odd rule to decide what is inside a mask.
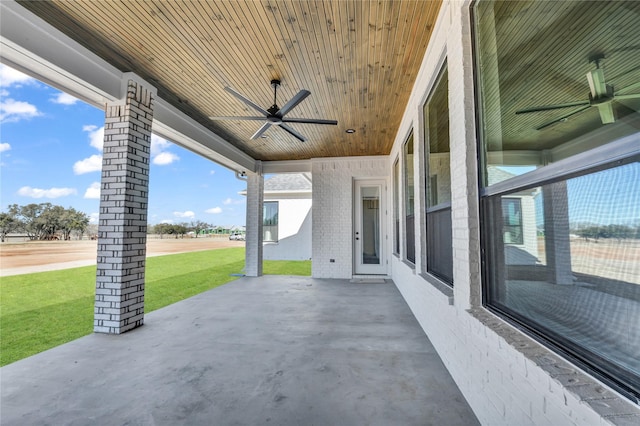
[[[260,164],[258,172],[247,176],[247,235],[245,274],[262,276],[262,206],[264,204],[264,176]]]

